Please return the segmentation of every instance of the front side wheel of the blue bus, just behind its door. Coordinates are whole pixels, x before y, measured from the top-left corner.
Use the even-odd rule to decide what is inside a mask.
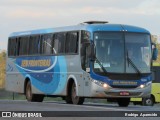
[[[76,95],[76,85],[73,82],[72,84],[72,89],[71,89],[71,99],[72,99],[72,103],[76,104],[76,105],[82,105],[84,102],[84,98],[83,97],[78,97]]]

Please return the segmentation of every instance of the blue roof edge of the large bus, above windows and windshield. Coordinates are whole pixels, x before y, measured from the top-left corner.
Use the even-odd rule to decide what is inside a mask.
[[[87,30],[90,32],[94,31],[126,31],[126,32],[137,32],[137,33],[149,33],[148,30],[131,25],[122,25],[122,24],[79,24],[75,26],[66,26],[58,28],[48,28],[48,29],[38,29],[31,31],[22,31],[14,32],[10,37],[16,36],[27,36],[27,35],[36,35],[36,34],[47,34],[54,32],[65,32],[65,31],[74,31],[74,30]]]

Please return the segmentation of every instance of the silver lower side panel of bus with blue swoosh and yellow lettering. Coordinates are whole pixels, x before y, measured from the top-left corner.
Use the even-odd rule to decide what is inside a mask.
[[[35,94],[66,95],[70,76],[77,84],[77,95],[83,96],[79,55],[8,58],[6,90],[23,93],[25,79],[29,78]]]

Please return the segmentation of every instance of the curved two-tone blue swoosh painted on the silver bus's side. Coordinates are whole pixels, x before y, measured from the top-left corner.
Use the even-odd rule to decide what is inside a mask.
[[[55,58],[50,58],[52,58],[53,63]],[[39,59],[43,59],[43,57]],[[16,62],[15,64],[20,64],[20,60],[16,61],[18,62]],[[59,56],[54,68],[46,72],[28,72],[27,70],[24,70],[18,66],[17,69],[20,73],[22,73],[24,78],[26,76],[29,76],[32,85],[44,94],[59,94],[65,88],[65,83],[67,80],[67,65],[65,57],[63,56]],[[34,70],[36,69],[34,68]]]

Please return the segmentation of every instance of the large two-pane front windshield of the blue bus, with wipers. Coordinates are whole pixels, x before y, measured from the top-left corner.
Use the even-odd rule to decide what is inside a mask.
[[[109,73],[150,73],[149,34],[95,32],[96,58]],[[95,60],[94,71],[104,72]]]

